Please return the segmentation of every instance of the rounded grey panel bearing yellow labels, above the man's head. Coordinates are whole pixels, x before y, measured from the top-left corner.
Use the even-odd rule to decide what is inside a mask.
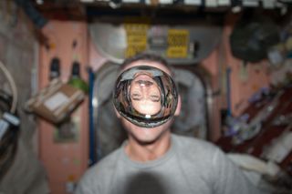
[[[147,51],[164,56],[171,64],[186,65],[210,55],[219,44],[222,28],[217,21],[193,26],[95,22],[89,25],[89,34],[99,53],[115,63]]]

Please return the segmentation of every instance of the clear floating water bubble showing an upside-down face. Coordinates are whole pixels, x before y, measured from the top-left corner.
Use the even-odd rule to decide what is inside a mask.
[[[113,102],[122,117],[143,128],[168,121],[178,94],[172,77],[153,66],[134,66],[118,77]]]

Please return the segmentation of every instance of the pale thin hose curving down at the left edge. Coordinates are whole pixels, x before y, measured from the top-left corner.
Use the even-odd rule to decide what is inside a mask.
[[[17,106],[17,89],[16,89],[16,82],[14,81],[13,77],[9,73],[8,69],[5,67],[5,65],[0,61],[0,68],[5,74],[5,77],[10,85],[11,91],[12,91],[12,105],[10,108],[10,112],[12,114],[16,113],[16,106]]]

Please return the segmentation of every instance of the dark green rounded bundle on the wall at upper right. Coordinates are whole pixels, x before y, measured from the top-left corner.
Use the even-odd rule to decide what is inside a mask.
[[[230,46],[235,57],[258,62],[267,57],[268,49],[279,40],[278,26],[271,19],[245,12],[230,36]]]

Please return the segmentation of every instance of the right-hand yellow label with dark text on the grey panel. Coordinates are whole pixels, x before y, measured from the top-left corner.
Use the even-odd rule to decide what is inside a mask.
[[[166,56],[170,58],[186,57],[188,55],[189,34],[186,29],[170,29],[167,37]]]

